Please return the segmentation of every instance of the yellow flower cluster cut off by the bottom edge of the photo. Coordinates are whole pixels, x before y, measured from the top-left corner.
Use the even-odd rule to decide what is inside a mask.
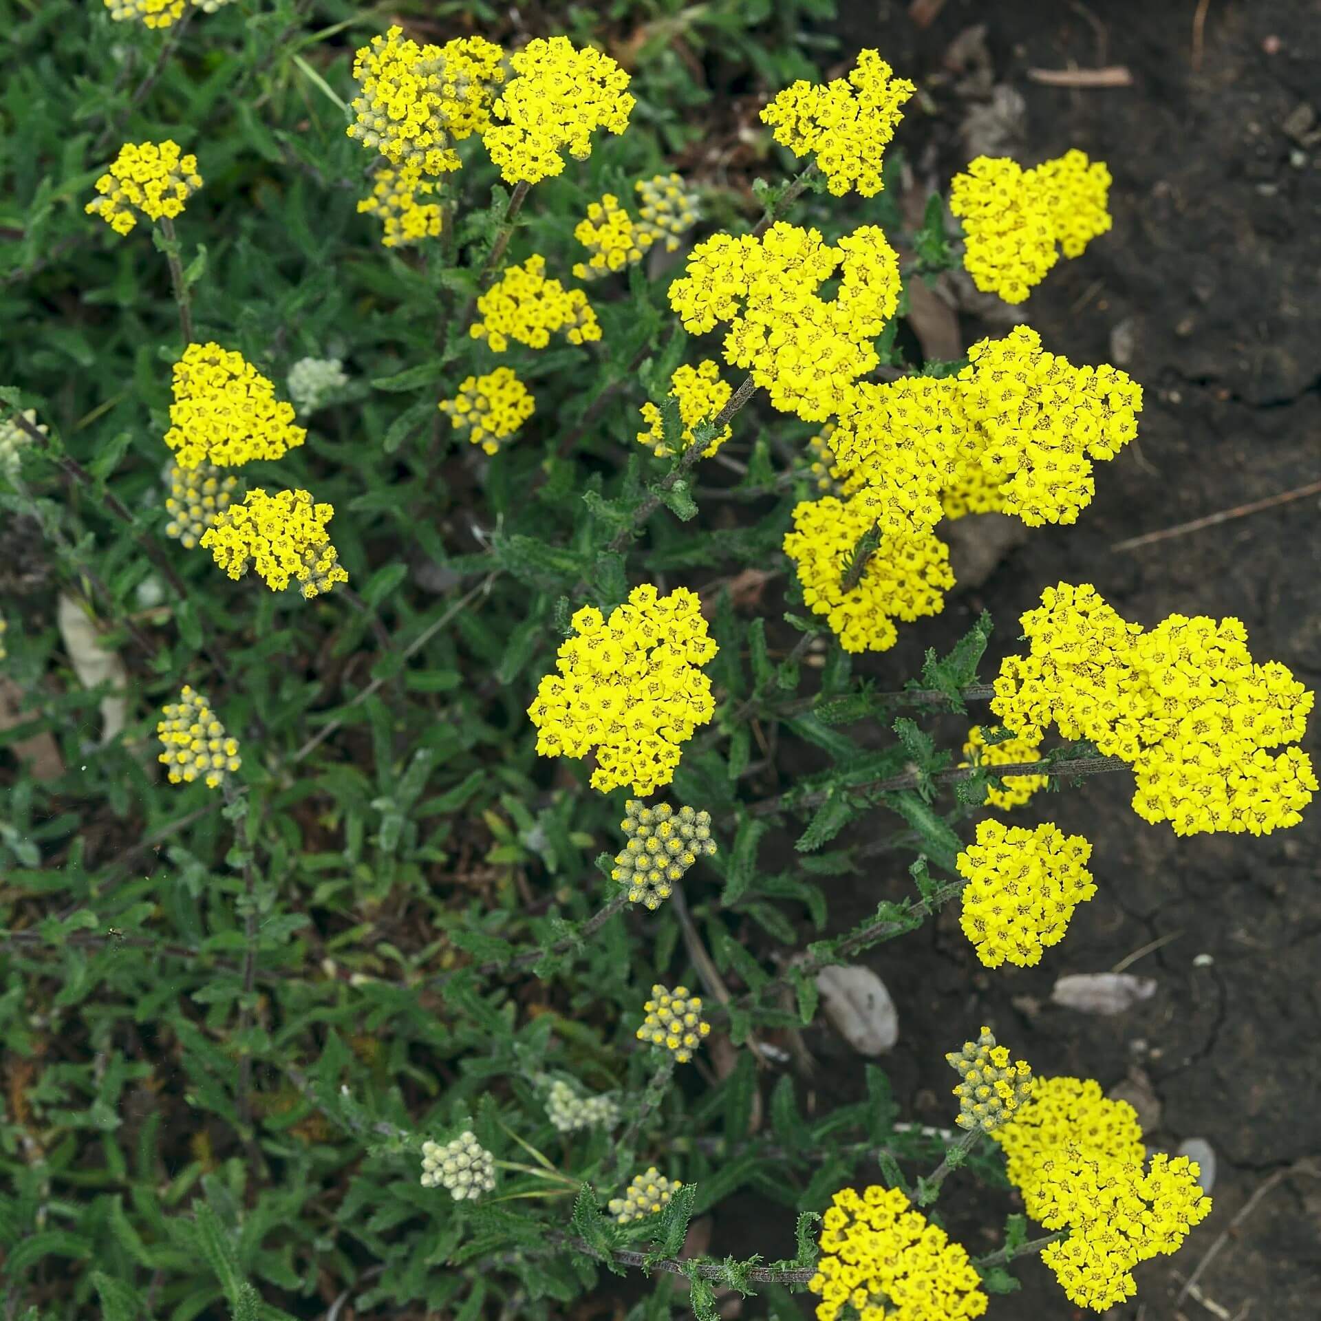
[[[971,1321],[983,1316],[982,1277],[960,1243],[929,1225],[902,1189],[840,1189],[822,1217],[816,1321],[847,1306],[859,1321]]]

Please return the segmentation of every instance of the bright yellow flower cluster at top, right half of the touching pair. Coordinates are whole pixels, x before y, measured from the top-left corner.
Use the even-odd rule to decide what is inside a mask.
[[[482,141],[507,184],[538,184],[564,169],[563,148],[579,161],[592,135],[629,127],[629,75],[592,46],[568,37],[534,37],[510,57],[518,75],[491,107]]]

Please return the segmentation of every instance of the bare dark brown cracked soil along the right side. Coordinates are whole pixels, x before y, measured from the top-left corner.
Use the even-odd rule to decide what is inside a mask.
[[[997,663],[1015,649],[1017,616],[1061,579],[1094,583],[1148,626],[1173,612],[1238,616],[1256,659],[1283,660],[1321,687],[1316,495],[1135,551],[1111,548],[1321,478],[1321,4],[1210,0],[1196,71],[1194,0],[947,0],[929,5],[939,13],[925,30],[898,0],[840,8],[845,54],[878,46],[918,81],[942,67],[962,30],[985,22],[995,79],[1025,100],[1025,162],[1079,147],[1110,164],[1112,232],[1057,266],[1022,320],[1074,362],[1122,362],[1147,391],[1139,443],[1098,465],[1096,499],[1078,524],[1030,532],[934,627],[910,629],[875,664],[881,687],[983,606],[996,620]],[[1127,66],[1132,86],[1070,90],[1028,77],[1100,65]],[[948,178],[968,159],[958,128],[966,111],[952,89],[938,85],[933,98],[934,114],[918,112],[901,140],[933,177]],[[964,343],[1003,325],[959,318]],[[1304,745],[1321,761],[1318,731],[1314,715]],[[946,733],[958,737],[960,727]],[[1111,1317],[1314,1321],[1321,1178],[1305,1173],[1273,1182],[1196,1293],[1178,1295],[1263,1182],[1309,1159],[1321,1170],[1321,803],[1268,839],[1176,839],[1132,814],[1131,791],[1127,774],[1096,777],[1021,811],[1021,823],[1054,819],[1094,844],[1099,893],[1040,967],[982,968],[950,910],[934,930],[868,958],[900,1011],[900,1044],[884,1062],[910,1118],[947,1124],[955,1079],[942,1054],[984,1021],[1037,1071],[1091,1075],[1135,1100],[1152,1148],[1211,1144],[1211,1217],[1181,1254],[1139,1267],[1137,1297]],[[901,893],[905,881],[878,869],[853,894],[835,890],[832,919],[860,918],[878,892]],[[1156,942],[1132,963],[1157,983],[1144,1004],[1115,1017],[1050,1004],[1058,976],[1108,971]],[[828,1029],[807,1044],[822,1104],[852,1099],[857,1057]],[[997,1235],[1013,1207],[1008,1194],[983,1193],[948,1197],[946,1209],[951,1231],[979,1252],[999,1242],[984,1236],[987,1226]],[[712,1250],[779,1248],[765,1230],[757,1242],[736,1242],[742,1236],[717,1225]],[[1022,1292],[992,1300],[993,1317],[1082,1314],[1040,1264],[1018,1273]]]

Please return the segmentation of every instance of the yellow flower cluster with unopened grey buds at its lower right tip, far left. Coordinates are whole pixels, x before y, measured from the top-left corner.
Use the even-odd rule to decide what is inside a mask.
[[[217,515],[201,546],[231,579],[242,577],[255,563],[272,592],[284,590],[292,577],[310,600],[336,583],[349,581],[325,527],[333,515],[333,505],[314,505],[306,491],[267,495],[258,486],[242,505]]]

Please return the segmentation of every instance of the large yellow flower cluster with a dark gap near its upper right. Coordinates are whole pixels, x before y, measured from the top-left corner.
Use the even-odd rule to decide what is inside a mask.
[[[839,272],[839,292],[819,299]],[[880,361],[872,341],[894,316],[900,267],[872,225],[834,247],[818,230],[783,221],[760,239],[716,234],[688,254],[670,285],[684,329],[704,334],[728,321],[725,362],[746,369],[782,412],[824,421],[845,410],[855,380]]]

